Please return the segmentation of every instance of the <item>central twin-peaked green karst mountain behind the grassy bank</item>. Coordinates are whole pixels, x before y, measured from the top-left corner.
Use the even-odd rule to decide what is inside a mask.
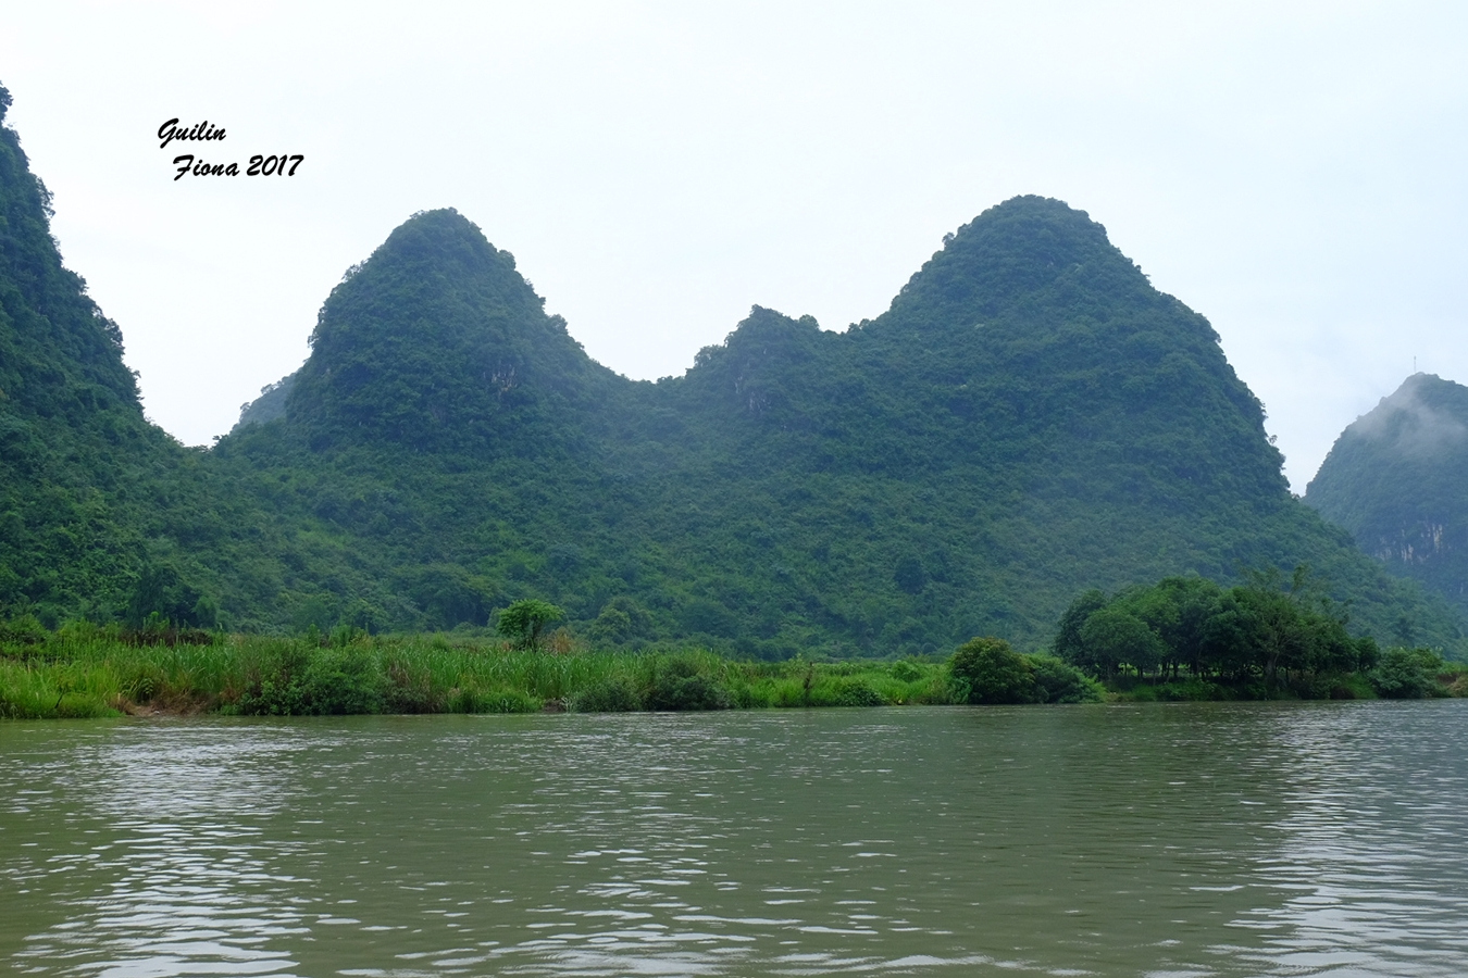
[[[1053,199],[975,218],[876,320],[756,306],[656,384],[590,361],[464,217],[417,214],[297,377],[214,456],[374,582],[307,617],[452,626],[536,595],[614,638],[630,611],[627,639],[918,652],[1042,641],[1088,587],[1308,562],[1358,622],[1458,641],[1290,497],[1208,323]]]

